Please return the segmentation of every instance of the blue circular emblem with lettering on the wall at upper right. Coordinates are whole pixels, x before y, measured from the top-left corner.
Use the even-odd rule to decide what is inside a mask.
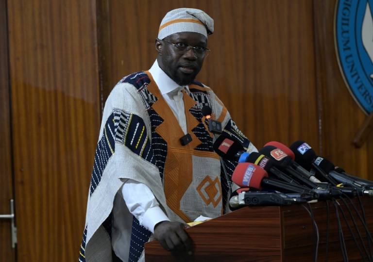
[[[335,41],[339,67],[360,108],[373,111],[373,0],[338,0]]]

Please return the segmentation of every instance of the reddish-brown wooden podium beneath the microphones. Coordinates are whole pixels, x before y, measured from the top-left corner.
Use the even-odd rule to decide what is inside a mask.
[[[366,249],[373,248],[367,242],[367,233],[353,205],[345,199],[355,218],[357,228],[363,238]],[[373,198],[361,198],[367,226],[373,233]],[[361,215],[357,198],[352,202]],[[338,207],[340,225],[344,237],[348,261],[364,261],[368,256],[358,237],[348,208],[338,200],[346,220]],[[321,201],[310,204],[319,231],[319,246],[317,261],[343,261],[336,208],[331,201]],[[328,219],[329,207],[329,219]],[[307,204],[283,207],[243,207],[232,213],[203,222],[186,229],[192,240],[193,255],[166,251],[158,241],[145,244],[146,262],[180,262],[180,261],[314,261],[316,234],[310,214],[305,208]],[[327,240],[327,221],[329,220],[329,238]],[[348,225],[356,238],[354,242]],[[358,247],[357,247],[358,246]]]

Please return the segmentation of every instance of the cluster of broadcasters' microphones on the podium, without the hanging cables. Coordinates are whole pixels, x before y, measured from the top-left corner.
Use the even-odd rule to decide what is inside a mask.
[[[290,205],[343,196],[373,197],[373,181],[346,174],[329,160],[317,156],[305,141],[296,141],[290,147],[269,142],[258,152],[249,154],[233,137],[220,135],[213,147],[223,159],[238,162],[232,181],[246,188],[231,197],[231,208]]]

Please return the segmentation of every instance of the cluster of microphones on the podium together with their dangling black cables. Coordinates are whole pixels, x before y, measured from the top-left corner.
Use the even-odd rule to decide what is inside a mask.
[[[220,135],[213,148],[221,158],[238,162],[232,175],[232,181],[240,188],[233,192],[229,199],[231,210],[244,206],[284,206],[307,203],[309,210],[305,205],[303,207],[312,218],[314,241],[317,239],[314,243],[314,261],[317,261],[319,232],[309,202],[330,200],[326,202],[326,206],[328,207],[328,203],[332,203],[336,209],[343,261],[347,262],[349,258],[339,212],[343,214],[363,261],[373,262],[373,239],[367,227],[364,208],[360,200],[361,196],[373,197],[373,181],[347,174],[329,160],[317,156],[312,147],[301,140],[294,142],[290,147],[279,142],[269,142],[258,152],[248,153],[233,137]],[[358,198],[362,215],[357,211],[351,197]],[[348,205],[344,198],[349,199],[351,205]],[[341,205],[344,205],[350,213],[358,237],[354,235]],[[355,213],[366,231],[367,246],[350,207],[355,209]],[[329,208],[327,208],[328,219]],[[329,229],[327,228],[326,243],[328,243],[328,235]],[[357,238],[360,239],[360,243],[357,242]],[[327,261],[327,246],[325,254],[325,261]]]

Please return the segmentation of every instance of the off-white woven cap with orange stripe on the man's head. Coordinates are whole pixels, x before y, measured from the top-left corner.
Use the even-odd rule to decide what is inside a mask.
[[[199,9],[174,9],[163,18],[158,38],[162,40],[170,34],[180,32],[201,33],[207,37],[214,32],[214,20]]]

